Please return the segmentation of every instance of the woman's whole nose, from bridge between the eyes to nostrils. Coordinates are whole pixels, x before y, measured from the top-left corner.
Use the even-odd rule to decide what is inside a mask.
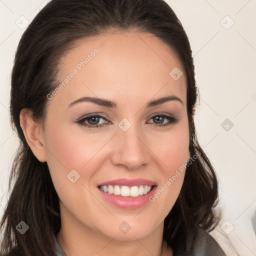
[[[129,169],[148,163],[148,149],[143,143],[143,135],[136,124],[125,118],[118,123],[112,162],[125,165]]]

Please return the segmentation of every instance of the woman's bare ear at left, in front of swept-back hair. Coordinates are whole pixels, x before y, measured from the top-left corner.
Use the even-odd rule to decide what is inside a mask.
[[[19,114],[19,123],[25,136],[26,142],[32,150],[34,156],[40,161],[46,161],[43,130],[40,124],[32,118],[32,110],[22,108]]]

